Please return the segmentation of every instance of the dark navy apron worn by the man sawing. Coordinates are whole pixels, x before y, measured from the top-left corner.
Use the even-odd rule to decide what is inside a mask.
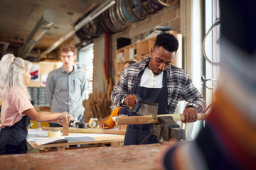
[[[147,64],[146,64],[147,67]],[[167,103],[167,76],[166,71],[164,71],[163,76],[163,87],[159,88],[146,88],[139,85],[139,81],[142,78],[144,70],[139,72],[137,79],[135,79],[134,86],[132,88],[132,94],[138,94],[142,101],[149,101],[154,103],[159,103],[158,115],[159,114],[169,114],[168,103]],[[129,113],[129,116],[137,115],[137,113]],[[153,124],[143,124],[143,125],[128,125],[127,131],[124,137],[124,145],[139,145],[141,142],[149,135]],[[148,140],[143,144],[158,143],[155,135],[151,135]]]

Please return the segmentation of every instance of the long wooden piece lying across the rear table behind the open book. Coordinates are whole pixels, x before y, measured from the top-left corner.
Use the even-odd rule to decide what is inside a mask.
[[[60,130],[63,131],[63,128],[54,128],[43,126],[42,130]],[[79,132],[79,133],[100,133],[100,134],[114,134],[114,135],[125,135],[125,130],[104,130],[100,128],[68,128],[68,132]]]

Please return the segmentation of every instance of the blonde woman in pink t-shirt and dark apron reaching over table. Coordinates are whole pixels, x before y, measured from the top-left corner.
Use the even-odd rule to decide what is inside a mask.
[[[27,86],[32,63],[14,55],[4,55],[0,61],[0,154],[26,154],[29,118],[38,122],[70,121],[67,113],[38,113],[32,106]]]

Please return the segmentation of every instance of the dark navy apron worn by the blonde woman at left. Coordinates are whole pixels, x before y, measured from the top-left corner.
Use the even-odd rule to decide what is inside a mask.
[[[0,154],[26,154],[28,152],[26,137],[29,122],[28,116],[25,115],[13,126],[1,129]]]

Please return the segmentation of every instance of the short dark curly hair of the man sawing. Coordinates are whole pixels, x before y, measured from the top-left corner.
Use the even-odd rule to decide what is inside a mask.
[[[178,40],[172,34],[161,33],[157,35],[154,47],[164,47],[169,52],[177,52]]]

